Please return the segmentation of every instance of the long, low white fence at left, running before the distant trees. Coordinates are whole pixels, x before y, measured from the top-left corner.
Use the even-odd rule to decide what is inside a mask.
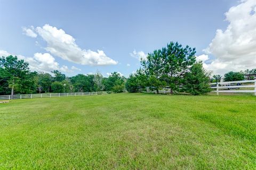
[[[106,91],[97,92],[71,92],[60,94],[29,94],[29,95],[13,95],[13,99],[27,99],[27,98],[44,98],[44,97],[68,97],[68,96],[90,96],[90,95],[106,95]],[[0,100],[10,100],[11,95],[0,96]]]

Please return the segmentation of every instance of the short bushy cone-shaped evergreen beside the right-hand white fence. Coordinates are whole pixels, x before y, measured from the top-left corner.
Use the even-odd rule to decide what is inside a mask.
[[[183,80],[183,91],[191,95],[204,95],[211,91],[209,73],[203,69],[202,62],[190,67]]]

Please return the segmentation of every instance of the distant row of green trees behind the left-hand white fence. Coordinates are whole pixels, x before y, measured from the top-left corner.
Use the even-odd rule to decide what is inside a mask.
[[[108,78],[100,72],[67,77],[58,70],[50,73],[30,71],[29,63],[17,56],[0,58],[0,95],[113,91],[123,92],[125,77],[114,72]]]

